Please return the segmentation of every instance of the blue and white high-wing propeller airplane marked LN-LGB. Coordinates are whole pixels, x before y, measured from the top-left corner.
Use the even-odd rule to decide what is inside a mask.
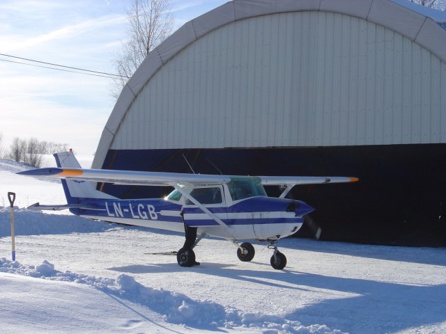
[[[236,176],[164,173],[130,170],[82,169],[73,152],[54,154],[57,168],[25,170],[20,175],[61,179],[66,205],[40,205],[29,209],[70,209],[72,214],[146,228],[185,232],[185,244],[176,253],[181,267],[198,265],[194,247],[203,237],[217,237],[237,247],[240,261],[254,258],[245,240],[266,241],[273,250],[271,267],[282,270],[286,257],[277,241],[297,232],[313,207],[285,198],[296,184],[357,182],[356,177]],[[165,198],[123,200],[98,191],[93,182],[141,186],[172,186]],[[268,197],[264,186],[282,186],[278,198]],[[197,237],[199,235],[199,237]],[[243,241],[243,242],[241,242]]]

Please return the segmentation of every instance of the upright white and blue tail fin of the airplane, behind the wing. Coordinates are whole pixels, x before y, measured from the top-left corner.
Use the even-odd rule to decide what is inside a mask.
[[[59,168],[82,168],[73,152],[56,153],[54,158]],[[116,199],[114,196],[94,189],[91,182],[77,180],[61,180],[61,182],[69,205],[80,204],[81,199]]]

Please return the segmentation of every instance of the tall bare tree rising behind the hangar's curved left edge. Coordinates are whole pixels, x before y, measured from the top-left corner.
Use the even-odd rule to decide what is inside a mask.
[[[171,34],[174,25],[171,7],[171,0],[132,0],[127,9],[128,40],[114,59],[116,73],[121,75],[113,79],[110,88],[115,100],[148,53]]]

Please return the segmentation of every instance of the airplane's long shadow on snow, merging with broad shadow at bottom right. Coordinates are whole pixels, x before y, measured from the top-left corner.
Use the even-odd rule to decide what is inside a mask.
[[[253,262],[255,263],[255,262]],[[295,299],[300,292],[327,289],[355,296],[325,299],[304,308],[296,308],[284,319],[300,321],[302,325],[317,324],[323,319],[332,329],[351,333],[394,333],[407,328],[428,326],[446,321],[446,285],[405,285],[357,278],[339,278],[304,273],[292,269],[273,271],[235,269],[235,265],[206,262],[199,267],[183,268],[176,263],[130,265],[109,268],[127,273],[173,273],[192,271],[210,276],[245,281],[271,288],[288,289]],[[336,293],[334,293],[335,295]],[[436,301],[440,301],[436,303]]]

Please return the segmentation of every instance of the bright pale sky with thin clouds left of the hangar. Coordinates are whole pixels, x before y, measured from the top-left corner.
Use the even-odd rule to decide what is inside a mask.
[[[227,0],[172,0],[174,31]],[[1,0],[0,54],[115,73],[130,0]],[[94,154],[114,107],[112,79],[22,65],[0,56],[0,142],[66,143]],[[29,62],[28,62],[29,63]],[[33,63],[34,65],[42,65]]]

